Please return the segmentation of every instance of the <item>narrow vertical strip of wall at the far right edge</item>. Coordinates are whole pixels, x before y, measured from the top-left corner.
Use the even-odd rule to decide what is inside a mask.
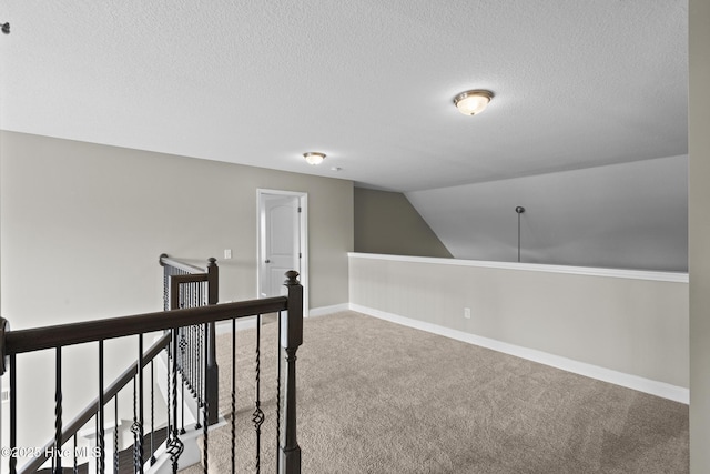
[[[710,2],[690,0],[690,472],[710,472]]]

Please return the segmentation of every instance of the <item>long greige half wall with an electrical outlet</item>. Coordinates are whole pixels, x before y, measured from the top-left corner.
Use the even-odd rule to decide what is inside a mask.
[[[349,292],[355,311],[688,402],[686,273],[351,253]]]

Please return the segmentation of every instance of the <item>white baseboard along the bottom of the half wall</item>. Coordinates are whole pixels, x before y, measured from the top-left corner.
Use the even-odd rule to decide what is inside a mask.
[[[402,324],[404,326],[430,332],[433,334],[443,335],[445,337],[450,337],[457,341],[467,342],[469,344],[479,345],[481,347],[491,349],[494,351],[515,355],[517,357],[521,357],[528,361],[549,365],[567,372],[572,372],[590,379],[597,379],[602,382],[621,385],[627,389],[638,390],[639,392],[672,400],[679,403],[684,403],[684,404],[690,403],[690,391],[681,386],[671,385],[665,382],[652,381],[652,380],[643,379],[637,375],[612,371],[610,369],[605,369],[597,365],[574,361],[571,359],[548,354],[547,352],[537,351],[534,349],[523,347],[515,344],[508,344],[506,342],[496,341],[488,337],[481,337],[476,334],[453,330],[438,324],[427,323],[424,321],[414,320],[410,317],[405,317],[405,316],[400,316],[393,313],[386,313],[384,311],[375,310],[367,306],[361,306],[354,303],[349,304],[349,309],[352,311],[356,311],[358,313],[378,317],[381,320],[385,320],[393,323]]]

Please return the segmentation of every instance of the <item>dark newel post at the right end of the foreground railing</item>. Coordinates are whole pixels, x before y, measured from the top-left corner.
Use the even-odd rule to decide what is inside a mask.
[[[281,346],[286,353],[284,431],[280,441],[281,474],[301,473],[301,447],[296,440],[296,351],[303,343],[303,286],[298,272],[286,272],[284,285],[288,289],[288,311],[281,319]]]

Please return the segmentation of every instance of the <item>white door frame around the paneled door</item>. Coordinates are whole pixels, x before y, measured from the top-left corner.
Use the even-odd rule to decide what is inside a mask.
[[[263,246],[264,246],[264,231],[265,222],[262,219],[262,204],[263,198],[267,195],[288,195],[298,198],[298,206],[301,212],[298,213],[298,249],[301,252],[301,274],[298,281],[303,285],[303,315],[308,315],[308,193],[295,192],[295,191],[282,191],[272,189],[256,189],[256,297],[261,297],[262,294],[262,269],[264,265]],[[284,280],[286,278],[284,276]]]

